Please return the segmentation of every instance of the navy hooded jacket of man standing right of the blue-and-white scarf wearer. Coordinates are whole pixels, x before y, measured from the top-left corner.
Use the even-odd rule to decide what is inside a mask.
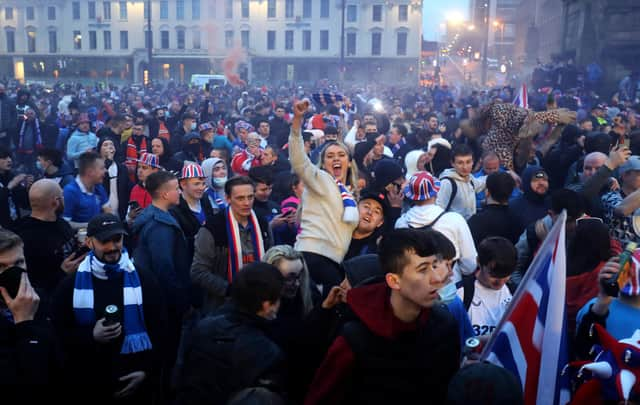
[[[136,218],[133,232],[138,237],[136,268],[154,273],[170,313],[182,314],[191,300],[191,257],[178,222],[168,212],[150,205]]]

